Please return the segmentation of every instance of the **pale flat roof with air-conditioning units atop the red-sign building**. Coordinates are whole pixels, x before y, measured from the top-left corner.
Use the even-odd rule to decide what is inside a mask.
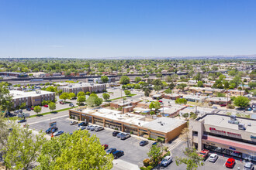
[[[204,120],[205,124],[238,130],[237,124],[228,123],[228,121],[230,121],[230,116],[221,115],[221,114],[206,114],[205,116],[201,117],[201,119],[199,120]],[[246,128],[245,131],[251,132],[254,134],[256,133],[255,131],[256,120],[237,117],[237,121],[239,121],[240,124],[244,124],[244,127]],[[251,126],[248,126],[248,124],[251,124]],[[243,130],[240,130],[240,131],[243,131]]]

